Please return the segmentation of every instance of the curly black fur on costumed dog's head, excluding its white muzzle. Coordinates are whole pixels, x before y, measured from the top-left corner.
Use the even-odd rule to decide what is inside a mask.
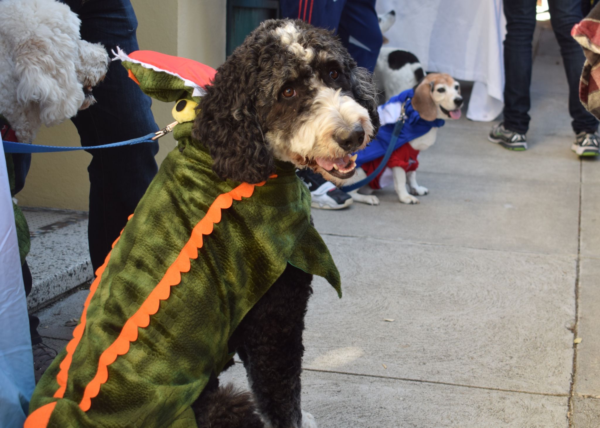
[[[294,56],[277,35],[276,29],[289,23],[299,29],[298,43],[315,52],[308,64]],[[343,79],[338,82],[327,80],[332,62],[341,68]],[[272,148],[265,134],[293,132],[310,100],[305,96],[284,111],[277,105],[281,89],[288,82],[307,83],[312,76],[354,97],[368,110],[373,135],[376,133],[379,116],[373,79],[367,70],[356,67],[340,41],[331,32],[301,20],[266,20],[218,68],[198,106],[193,136],[210,149],[218,176],[256,183],[274,172]],[[305,95],[310,95],[308,84],[305,86]]]

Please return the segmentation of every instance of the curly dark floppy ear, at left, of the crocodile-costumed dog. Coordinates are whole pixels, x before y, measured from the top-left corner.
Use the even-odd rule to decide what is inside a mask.
[[[269,178],[275,164],[257,113],[258,59],[242,58],[240,48],[206,86],[192,135],[208,146],[212,169],[220,178],[257,183]]]

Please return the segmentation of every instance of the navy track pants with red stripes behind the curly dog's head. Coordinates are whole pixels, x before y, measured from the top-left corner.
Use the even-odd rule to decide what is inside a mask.
[[[359,67],[375,68],[383,37],[375,0],[280,0],[281,16],[335,30]]]

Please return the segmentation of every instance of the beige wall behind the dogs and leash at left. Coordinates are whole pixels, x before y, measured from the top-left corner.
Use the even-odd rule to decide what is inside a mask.
[[[195,59],[211,67],[225,60],[225,0],[131,0],[139,22],[140,49]],[[173,121],[172,105],[152,101],[154,118],[161,128]],[[43,128],[35,142],[79,145],[71,121]],[[169,134],[160,139],[157,162],[175,147]],[[52,208],[88,209],[86,152],[34,154],[25,188],[17,194],[19,204]]]

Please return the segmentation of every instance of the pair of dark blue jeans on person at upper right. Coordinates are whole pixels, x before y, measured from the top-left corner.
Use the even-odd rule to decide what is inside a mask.
[[[504,125],[511,131],[529,129],[529,85],[532,72],[532,41],[535,30],[535,0],[504,0],[506,40],[504,41]],[[575,133],[594,132],[598,121],[579,100],[579,79],[585,57],[581,46],[571,37],[571,28],[583,19],[581,0],[548,0],[550,22],[569,84],[569,114]]]

